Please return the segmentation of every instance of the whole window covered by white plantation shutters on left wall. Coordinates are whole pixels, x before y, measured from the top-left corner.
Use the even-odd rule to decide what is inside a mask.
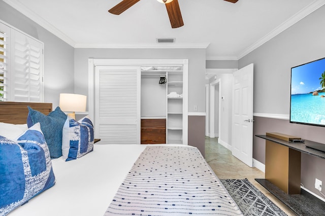
[[[1,101],[43,102],[43,46],[0,22]]]

